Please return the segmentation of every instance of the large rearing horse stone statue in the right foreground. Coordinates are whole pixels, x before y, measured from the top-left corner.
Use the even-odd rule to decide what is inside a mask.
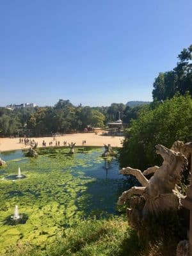
[[[143,197],[142,207],[137,214],[143,216],[150,214],[158,214],[164,210],[179,209],[180,199],[184,196],[179,192],[177,183],[180,180],[180,173],[188,164],[188,159],[176,148],[174,143],[172,149],[168,149],[163,145],[156,145],[157,154],[163,157],[162,166],[154,166],[141,173],[138,169],[131,167],[122,168],[120,173],[124,175],[134,175],[141,183],[141,187],[132,187],[128,191],[122,193],[118,199],[118,204],[122,205],[133,195],[141,195]],[[145,175],[154,173],[148,180]],[[134,204],[134,203],[133,203]],[[134,214],[135,209],[127,209],[128,216]]]

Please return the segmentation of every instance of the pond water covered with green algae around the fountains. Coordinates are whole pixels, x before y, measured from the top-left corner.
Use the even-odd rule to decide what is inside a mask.
[[[7,165],[0,168],[0,179],[19,167],[26,175],[0,180],[1,250],[19,241],[42,246],[88,216],[118,214],[116,201],[128,185],[116,159],[102,159],[103,148],[76,148],[74,156],[68,151],[42,148],[36,158],[24,157],[22,150],[1,154]],[[26,223],[8,225],[15,205]]]

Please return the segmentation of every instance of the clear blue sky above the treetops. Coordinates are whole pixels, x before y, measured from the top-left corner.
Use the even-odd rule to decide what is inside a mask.
[[[0,106],[152,100],[192,44],[191,0],[0,0]]]

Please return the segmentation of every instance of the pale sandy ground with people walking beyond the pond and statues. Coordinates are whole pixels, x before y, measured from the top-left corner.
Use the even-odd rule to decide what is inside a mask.
[[[52,147],[56,145],[56,141],[52,137],[43,138],[31,138],[31,140],[38,142],[38,147],[42,147],[43,140],[46,142],[46,146],[49,146],[49,142],[52,141]],[[86,140],[84,146],[103,146],[104,144],[111,144],[112,147],[122,147],[122,141],[124,136],[102,136],[101,134],[95,133],[77,133],[77,134],[66,134],[65,136],[56,136],[56,140],[60,141],[60,146],[63,146],[63,141],[76,142],[76,146],[82,146],[83,140]],[[19,138],[0,138],[0,152],[16,150],[22,148],[29,148],[24,143],[19,143]]]

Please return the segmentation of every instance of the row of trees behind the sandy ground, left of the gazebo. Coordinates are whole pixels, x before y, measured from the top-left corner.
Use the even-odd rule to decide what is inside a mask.
[[[19,134],[44,136],[52,133],[83,131],[84,128],[104,127],[105,108],[73,106],[69,100],[60,99],[54,107],[0,108],[1,136]]]

